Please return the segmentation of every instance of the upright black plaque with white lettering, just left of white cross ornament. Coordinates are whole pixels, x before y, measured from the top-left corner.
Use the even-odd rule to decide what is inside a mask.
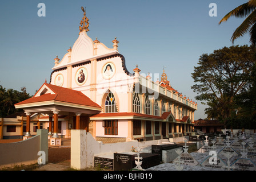
[[[114,153],[114,171],[129,171],[132,168],[132,155]]]

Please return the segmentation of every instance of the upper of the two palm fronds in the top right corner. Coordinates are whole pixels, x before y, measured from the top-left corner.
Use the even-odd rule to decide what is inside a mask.
[[[253,2],[251,1],[251,3],[253,3]],[[226,22],[227,19],[229,19],[231,16],[235,16],[236,18],[243,18],[243,17],[249,15],[253,10],[255,10],[255,8],[256,8],[256,5],[254,5],[254,4],[250,5],[249,2],[244,3],[243,5],[236,7],[234,10],[232,10],[228,14],[226,14],[226,16],[224,16],[221,19],[219,24],[221,24],[222,22]]]

